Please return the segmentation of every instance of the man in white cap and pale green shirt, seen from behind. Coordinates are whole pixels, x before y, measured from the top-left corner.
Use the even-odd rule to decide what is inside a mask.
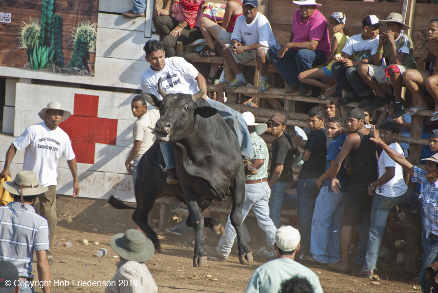
[[[318,276],[308,268],[294,261],[300,250],[300,232],[291,226],[282,226],[275,233],[274,249],[277,258],[258,267],[249,279],[246,293],[279,292],[282,283],[295,276],[305,278],[312,286],[314,293],[322,293],[323,289]]]

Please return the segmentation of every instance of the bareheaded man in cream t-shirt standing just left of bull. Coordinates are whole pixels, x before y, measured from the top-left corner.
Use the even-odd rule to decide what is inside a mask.
[[[146,100],[141,96],[135,96],[131,101],[131,111],[134,117],[137,117],[132,136],[134,144],[125,161],[125,167],[128,174],[132,175],[132,183],[135,187],[135,179],[137,179],[137,166],[143,154],[153,145],[155,135],[152,134],[152,129],[155,123],[160,119],[160,111],[149,110]],[[132,164],[131,161],[133,160]]]

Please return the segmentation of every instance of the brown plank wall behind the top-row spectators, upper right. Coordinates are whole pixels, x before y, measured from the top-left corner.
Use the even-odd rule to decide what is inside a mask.
[[[362,20],[374,14],[379,19],[386,19],[391,12],[402,13],[403,3],[396,2],[360,2],[360,1],[341,1],[323,0],[317,1],[322,4],[318,9],[328,17],[337,11],[341,11],[347,16],[347,26],[351,28],[352,35],[362,32]],[[414,17],[413,42],[416,58],[424,57],[427,54],[427,27],[437,12],[434,4],[417,3]],[[289,41],[292,15],[298,5],[292,1],[269,0],[267,17],[271,22],[271,27],[278,42],[284,44]],[[435,16],[434,16],[435,14]],[[383,29],[383,27],[382,27]],[[332,33],[329,31],[330,38]]]

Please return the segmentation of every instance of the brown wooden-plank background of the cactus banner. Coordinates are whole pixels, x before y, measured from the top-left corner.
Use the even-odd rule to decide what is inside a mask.
[[[7,3],[2,3],[7,2]],[[66,65],[73,53],[70,34],[81,21],[97,22],[99,0],[56,0],[55,13],[63,18],[63,47]],[[0,23],[0,65],[22,68],[27,63],[26,50],[19,49],[17,38],[22,21],[41,19],[42,2],[38,0],[0,1],[2,12],[11,13],[11,23]],[[89,64],[94,65],[95,54],[91,54]]]

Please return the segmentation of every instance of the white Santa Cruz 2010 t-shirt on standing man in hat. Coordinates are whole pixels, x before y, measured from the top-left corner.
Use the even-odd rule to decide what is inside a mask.
[[[60,127],[50,130],[45,122],[29,126],[15,141],[18,150],[24,150],[23,170],[33,171],[42,187],[56,185],[58,159],[75,158],[70,138]]]

